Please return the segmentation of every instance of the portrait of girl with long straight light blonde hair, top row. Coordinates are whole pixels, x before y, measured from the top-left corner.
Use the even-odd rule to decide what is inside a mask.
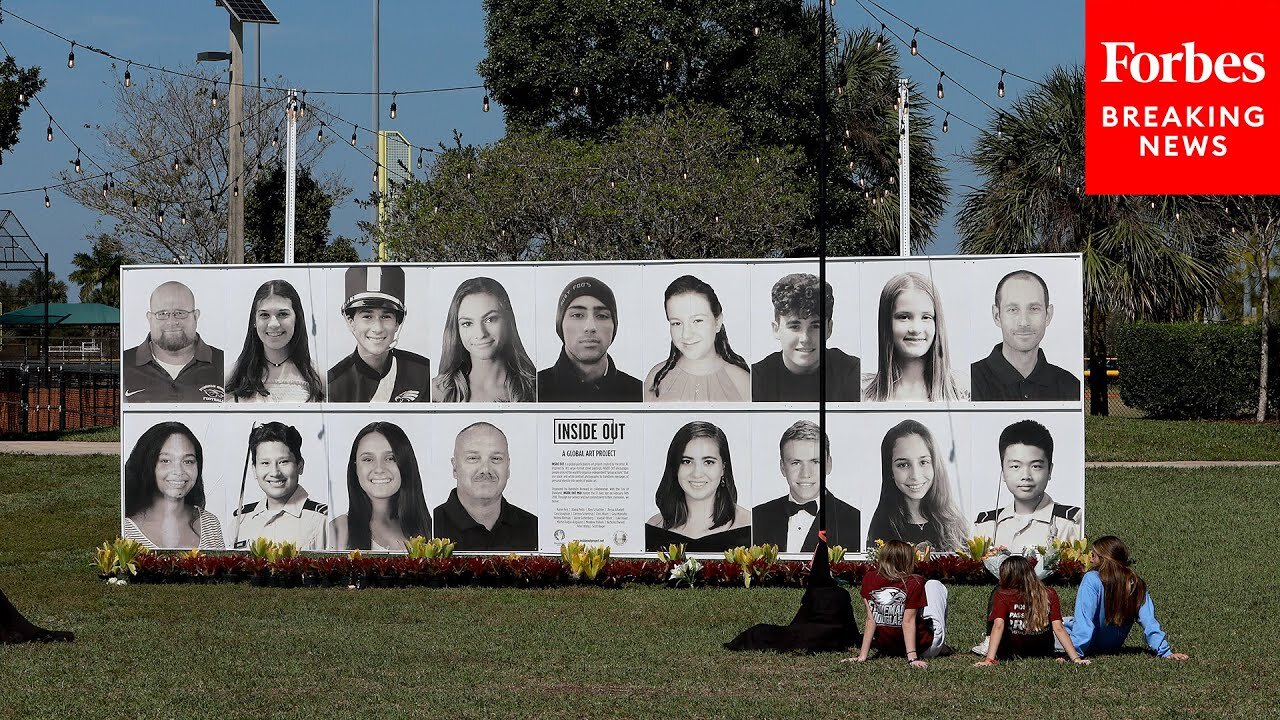
[[[969,400],[951,372],[942,297],[929,278],[900,273],[884,283],[877,311],[876,372],[863,375],[863,400]]]

